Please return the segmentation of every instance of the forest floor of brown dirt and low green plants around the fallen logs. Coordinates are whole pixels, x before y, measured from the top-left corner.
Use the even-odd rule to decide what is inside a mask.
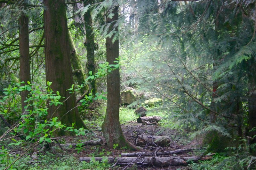
[[[104,110],[104,109],[102,109]],[[156,113],[150,113],[151,115],[156,115]],[[150,115],[149,114],[149,115]],[[158,114],[159,116],[163,116],[162,113]],[[101,145],[88,145],[84,146],[81,149],[77,148],[70,148],[70,147],[62,147],[60,148],[59,145],[54,141],[52,143],[51,150],[49,151],[42,151],[41,149],[37,148],[37,150],[41,150],[42,152],[38,153],[36,156],[33,155],[33,150],[28,153],[26,157],[23,157],[19,161],[17,161],[13,168],[16,168],[17,170],[23,170],[23,169],[44,169],[44,170],[107,170],[107,169],[113,169],[113,170],[121,170],[121,169],[127,169],[127,170],[139,170],[139,169],[147,169],[147,170],[164,170],[164,169],[170,169],[170,170],[188,170],[188,169],[209,169],[214,170],[218,169],[217,165],[221,160],[223,160],[225,157],[220,157],[217,155],[217,157],[214,157],[212,160],[205,160],[204,162],[188,162],[188,166],[168,166],[168,167],[146,167],[146,166],[114,166],[107,164],[106,162],[98,162],[98,161],[91,161],[91,162],[85,162],[85,161],[79,161],[80,157],[120,157],[121,153],[129,153],[134,152],[130,151],[127,148],[123,147],[121,149],[117,148],[108,148],[106,141],[103,137],[102,131],[101,131],[101,123],[103,122],[102,115],[98,115],[94,118],[92,118],[90,121],[85,121],[86,125],[89,125],[90,130],[88,130],[85,133],[85,136],[76,136],[76,137],[65,137],[58,139],[58,142],[61,144],[73,144],[73,143],[81,143],[88,140],[98,140],[101,139],[104,141]],[[160,151],[175,151],[178,149],[185,149],[189,148],[189,140],[188,140],[188,134],[181,130],[181,128],[171,129],[168,126],[164,126],[163,122],[160,122],[156,125],[144,125],[142,123],[137,123],[136,118],[138,115],[134,114],[133,109],[126,109],[120,110],[120,122],[121,127],[124,133],[124,136],[126,139],[132,143],[135,144],[135,139],[137,135],[155,135],[155,136],[168,136],[171,138],[171,143],[168,146],[165,147],[156,147],[156,146],[148,146],[148,150],[155,151],[156,149]],[[170,122],[169,122],[170,123]],[[204,149],[195,149],[192,151],[186,151],[179,154],[173,154],[169,156],[180,156],[180,157],[187,157],[187,156],[201,156],[204,152]],[[207,165],[207,162],[212,165]],[[206,164],[205,164],[206,163]],[[192,168],[192,167],[202,167],[203,165],[205,168]],[[209,167],[209,168],[207,168]],[[228,169],[228,168],[226,168]],[[225,170],[226,170],[225,169]],[[1,166],[0,166],[1,170]]]

